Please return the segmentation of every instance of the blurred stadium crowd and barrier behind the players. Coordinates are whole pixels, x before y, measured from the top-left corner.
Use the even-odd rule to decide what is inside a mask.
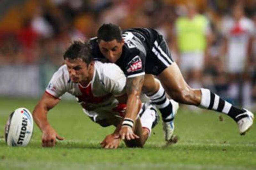
[[[52,73],[62,64],[70,42],[96,36],[102,23],[151,27],[161,32],[172,49],[174,23],[184,13],[186,0],[2,0],[0,6],[0,95],[38,97]],[[228,98],[222,20],[231,14],[233,0],[196,0],[198,12],[210,21],[212,41],[203,71],[203,85]],[[241,1],[242,2],[242,1]],[[256,23],[256,3],[244,0],[245,15]],[[256,41],[248,69],[255,99]],[[179,58],[173,53],[173,58]],[[179,63],[179,62],[178,62]],[[237,80],[240,81],[241,80]],[[243,80],[242,80],[243,81]],[[254,86],[254,88],[253,88]],[[232,100],[230,100],[232,101]],[[242,104],[241,100],[236,104]],[[255,103],[255,100],[254,100]],[[251,105],[251,104],[249,104]],[[253,105],[252,105],[253,106]],[[251,107],[251,106],[249,106]]]

